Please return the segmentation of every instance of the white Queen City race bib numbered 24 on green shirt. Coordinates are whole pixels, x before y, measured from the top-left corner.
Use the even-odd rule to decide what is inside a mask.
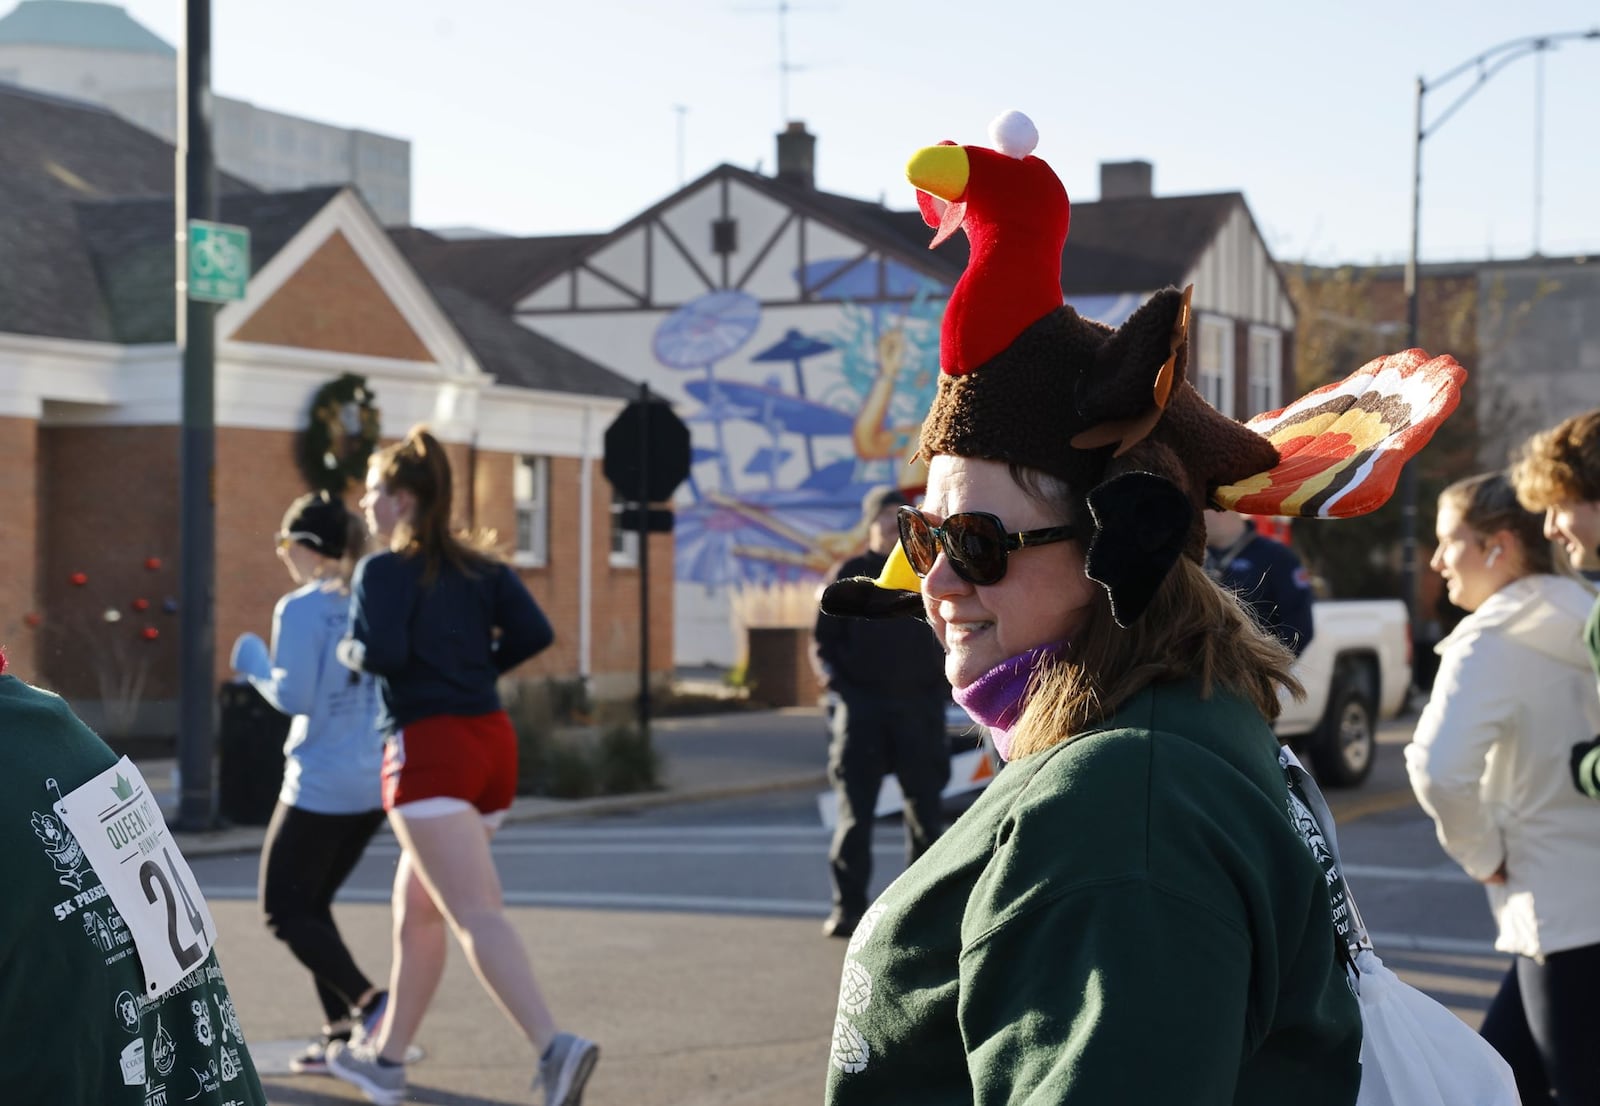
[[[205,964],[216,924],[162,808],[123,757],[56,803],[139,952],[146,997],[176,988]]]

